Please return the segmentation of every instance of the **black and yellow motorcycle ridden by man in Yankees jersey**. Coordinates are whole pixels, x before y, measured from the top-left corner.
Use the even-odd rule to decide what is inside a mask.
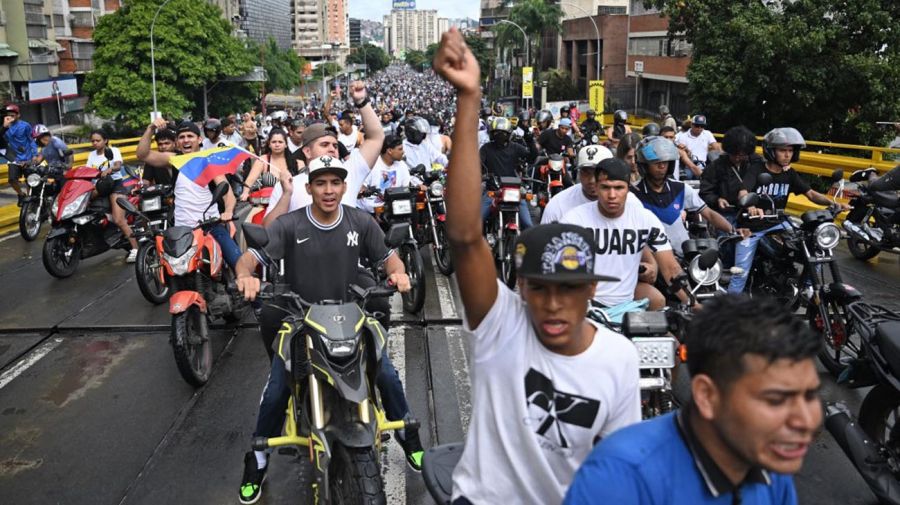
[[[264,251],[264,228],[244,224],[244,233],[251,247]],[[291,397],[285,435],[258,437],[253,449],[302,448],[297,454],[313,468],[307,496],[315,504],[386,503],[378,457],[383,436],[419,426],[412,419],[387,421],[375,387],[387,330],[363,307],[369,298],[390,296],[396,288],[350,286],[349,292],[352,302],[318,303],[287,285],[268,285],[260,293],[285,314],[278,354],[285,361]]]

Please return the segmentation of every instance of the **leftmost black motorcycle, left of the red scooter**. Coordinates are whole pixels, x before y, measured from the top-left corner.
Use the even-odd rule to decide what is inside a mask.
[[[41,224],[50,220],[50,207],[62,186],[63,174],[69,167],[65,163],[47,162],[25,163],[20,166],[25,180],[22,185],[25,196],[19,210],[19,232],[22,238],[31,242],[41,232]]]

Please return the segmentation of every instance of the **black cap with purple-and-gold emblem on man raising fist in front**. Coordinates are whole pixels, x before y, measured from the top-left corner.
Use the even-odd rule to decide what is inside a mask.
[[[529,228],[516,242],[517,275],[547,282],[618,281],[594,273],[597,243],[590,230],[550,223]]]

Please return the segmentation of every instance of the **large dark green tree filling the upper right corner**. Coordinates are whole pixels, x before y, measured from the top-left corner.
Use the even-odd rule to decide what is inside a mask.
[[[719,129],[790,125],[806,138],[878,143],[900,117],[900,3],[652,0],[692,44],[688,92]]]

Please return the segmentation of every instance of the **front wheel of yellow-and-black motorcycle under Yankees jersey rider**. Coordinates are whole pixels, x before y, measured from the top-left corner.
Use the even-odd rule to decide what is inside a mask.
[[[328,491],[331,503],[344,505],[382,505],[387,503],[384,481],[374,447],[334,445],[328,465]]]

